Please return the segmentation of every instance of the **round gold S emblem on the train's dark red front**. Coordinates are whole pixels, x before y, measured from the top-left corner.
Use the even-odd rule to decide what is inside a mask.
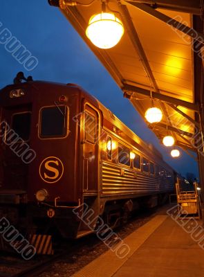
[[[64,172],[62,161],[57,157],[47,157],[39,166],[39,176],[46,183],[59,181]]]

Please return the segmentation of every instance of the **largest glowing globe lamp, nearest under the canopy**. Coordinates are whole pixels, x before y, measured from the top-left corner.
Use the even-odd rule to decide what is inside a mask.
[[[89,19],[86,36],[91,42],[102,49],[108,49],[120,42],[124,27],[120,19],[113,13],[102,12]]]

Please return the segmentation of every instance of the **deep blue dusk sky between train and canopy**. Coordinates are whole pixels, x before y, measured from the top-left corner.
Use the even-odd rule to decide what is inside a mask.
[[[104,66],[82,41],[80,35],[62,15],[59,9],[48,5],[47,0],[1,1],[0,33],[8,28],[30,53],[38,64],[33,71],[27,71],[19,64],[5,45],[0,44],[0,87],[11,84],[19,71],[34,80],[73,82],[93,94],[108,107],[138,136],[154,143],[167,163],[182,175],[193,172],[198,177],[196,161],[182,152],[179,159],[172,159],[169,150],[151,132],[129,100],[111,78]]]

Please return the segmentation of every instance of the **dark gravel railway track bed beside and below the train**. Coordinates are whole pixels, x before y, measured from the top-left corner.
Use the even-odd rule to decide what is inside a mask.
[[[160,213],[160,208],[138,213],[127,224],[117,228],[115,232],[120,238],[125,238],[132,231],[145,224],[155,213]],[[25,261],[19,256],[0,256],[0,277],[32,277],[32,276],[72,276],[75,271],[84,267],[104,251],[106,246],[90,235],[74,242],[61,242],[62,247],[55,251],[53,256],[35,256],[32,260]],[[57,267],[53,265],[58,264]],[[63,272],[62,272],[63,271]],[[47,274],[44,274],[47,272]],[[57,275],[56,275],[57,274]]]

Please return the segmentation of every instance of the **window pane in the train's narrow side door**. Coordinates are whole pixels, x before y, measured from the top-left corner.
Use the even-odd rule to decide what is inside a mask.
[[[85,112],[85,140],[89,143],[95,143],[95,116],[92,116],[87,111]]]

